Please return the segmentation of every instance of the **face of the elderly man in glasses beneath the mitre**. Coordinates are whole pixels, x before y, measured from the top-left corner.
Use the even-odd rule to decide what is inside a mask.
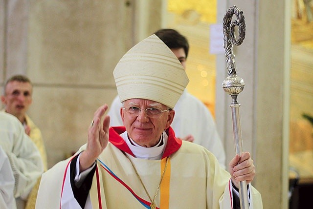
[[[121,117],[129,137],[138,145],[145,147],[151,147],[157,144],[162,132],[171,125],[175,115],[174,110],[163,111],[158,115],[147,114],[143,109],[153,107],[166,110],[167,107],[163,104],[145,99],[126,100],[124,107],[125,109],[121,108]],[[129,111],[130,107],[141,109],[139,115],[132,114]]]

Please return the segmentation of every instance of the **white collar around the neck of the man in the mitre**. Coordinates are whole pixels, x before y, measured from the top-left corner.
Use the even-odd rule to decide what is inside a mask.
[[[161,140],[153,147],[143,147],[137,145],[132,139],[128,138],[127,131],[120,135],[129,146],[136,158],[159,160],[167,144],[168,136],[165,131],[162,133]]]

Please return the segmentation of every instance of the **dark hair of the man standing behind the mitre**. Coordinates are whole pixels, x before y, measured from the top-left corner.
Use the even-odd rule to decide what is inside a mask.
[[[181,35],[178,31],[170,28],[160,29],[155,32],[156,36],[162,40],[170,49],[175,48],[183,48],[186,54],[186,58],[188,56],[189,44],[183,35]]]

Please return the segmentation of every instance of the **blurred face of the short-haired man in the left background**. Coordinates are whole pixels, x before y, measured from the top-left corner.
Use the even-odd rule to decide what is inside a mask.
[[[32,86],[27,82],[12,81],[6,85],[5,94],[1,97],[5,111],[16,116],[24,116],[32,103]]]

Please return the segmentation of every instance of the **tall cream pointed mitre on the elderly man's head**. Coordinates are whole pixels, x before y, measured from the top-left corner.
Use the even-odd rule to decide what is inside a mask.
[[[117,63],[113,76],[120,101],[147,99],[174,108],[187,86],[187,74],[156,35],[137,43]]]

